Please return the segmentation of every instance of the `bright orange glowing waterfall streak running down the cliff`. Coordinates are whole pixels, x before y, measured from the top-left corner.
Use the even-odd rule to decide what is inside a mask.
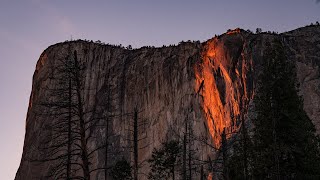
[[[220,146],[224,128],[229,132],[236,128],[234,122],[240,115],[243,102],[241,98],[247,99],[247,93],[244,92],[246,91],[245,61],[238,61],[242,63],[237,66],[241,71],[231,68],[233,59],[231,56],[225,50],[223,42],[214,38],[204,45],[202,62],[195,67],[195,89],[203,97],[203,101],[201,100],[203,112],[216,147]],[[224,84],[224,88],[219,89],[221,84]]]

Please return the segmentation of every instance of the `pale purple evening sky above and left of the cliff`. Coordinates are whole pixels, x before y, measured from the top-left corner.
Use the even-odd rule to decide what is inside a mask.
[[[41,52],[70,39],[133,47],[204,41],[227,29],[283,32],[320,22],[320,0],[0,0],[0,179],[20,163]]]

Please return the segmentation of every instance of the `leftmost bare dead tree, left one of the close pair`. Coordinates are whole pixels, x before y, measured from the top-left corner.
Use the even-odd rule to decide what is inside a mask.
[[[36,116],[47,119],[43,138],[38,150],[40,157],[32,162],[51,162],[48,178],[73,179],[79,169],[75,159],[79,153],[73,148],[77,141],[76,104],[74,102],[74,81],[71,74],[71,60],[58,60],[51,69],[48,81],[52,87],[44,87],[46,99],[36,103]],[[50,122],[49,122],[50,121]]]

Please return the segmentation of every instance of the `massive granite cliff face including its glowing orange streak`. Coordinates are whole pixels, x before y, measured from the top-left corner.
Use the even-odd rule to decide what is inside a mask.
[[[40,139],[46,126],[54,121],[38,116],[37,104],[47,99],[46,89],[57,84],[50,72],[70,50],[76,51],[84,72],[84,107],[112,117],[108,164],[126,157],[133,161],[133,112],[138,111],[139,179],[149,172],[146,161],[152,150],[168,139],[181,138],[185,124],[194,136],[219,147],[220,134],[226,128],[237,131],[241,116],[250,120],[254,108],[255,82],[261,73],[265,42],[280,37],[290,60],[296,63],[297,83],[304,108],[320,130],[320,28],[306,27],[280,35],[250,34],[235,30],[204,43],[185,42],[178,46],[127,50],[85,41],[59,43],[40,56],[33,76],[23,156],[16,179],[42,179],[54,162],[34,162],[40,152]],[[102,107],[111,97],[110,108]],[[95,135],[89,150],[104,144],[104,127],[91,129]],[[195,141],[192,148],[198,159],[214,159],[215,150]],[[105,151],[93,154],[91,169],[104,166]],[[204,167],[209,174],[209,167]],[[81,174],[81,172],[80,172]],[[177,173],[178,174],[178,173]],[[93,179],[104,179],[103,171],[94,171]]]

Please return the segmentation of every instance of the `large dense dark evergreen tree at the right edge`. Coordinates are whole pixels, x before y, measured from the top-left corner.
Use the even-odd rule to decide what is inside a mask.
[[[294,64],[279,40],[267,44],[255,97],[253,177],[320,178],[319,141],[297,94]]]

